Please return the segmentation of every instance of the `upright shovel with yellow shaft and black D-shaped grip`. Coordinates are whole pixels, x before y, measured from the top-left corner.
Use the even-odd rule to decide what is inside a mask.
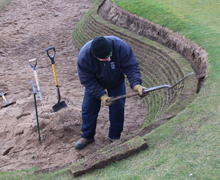
[[[53,51],[53,55],[52,56],[50,56],[50,54],[49,54],[50,50]],[[55,47],[54,46],[49,47],[49,48],[46,49],[46,51],[47,51],[47,56],[50,58],[51,63],[52,63],[53,75],[54,75],[54,78],[55,78],[55,84],[56,84],[56,88],[57,88],[58,102],[52,107],[53,111],[57,112],[60,109],[66,107],[67,105],[66,105],[65,101],[61,101],[60,102],[60,99],[61,99],[61,97],[60,97],[60,90],[59,90],[57,74],[56,74],[56,69],[55,69],[55,62],[54,62],[54,57],[55,57],[55,53],[56,53]]]

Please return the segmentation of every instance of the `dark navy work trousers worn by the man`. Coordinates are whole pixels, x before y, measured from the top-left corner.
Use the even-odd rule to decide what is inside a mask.
[[[126,94],[125,81],[123,80],[117,87],[107,89],[108,96],[120,96]],[[90,94],[85,88],[82,104],[82,138],[92,139],[95,136],[97,117],[100,111],[101,100]],[[109,137],[119,139],[124,126],[125,99],[117,100],[109,106]]]

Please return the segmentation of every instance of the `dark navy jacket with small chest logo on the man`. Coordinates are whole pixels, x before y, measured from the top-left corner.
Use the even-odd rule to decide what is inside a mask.
[[[112,45],[111,61],[100,61],[90,50],[92,41],[87,42],[79,52],[77,69],[82,85],[100,99],[106,94],[104,89],[116,87],[127,76],[131,88],[141,84],[141,73],[131,47],[114,36],[105,36]]]

